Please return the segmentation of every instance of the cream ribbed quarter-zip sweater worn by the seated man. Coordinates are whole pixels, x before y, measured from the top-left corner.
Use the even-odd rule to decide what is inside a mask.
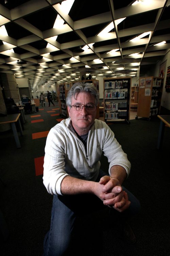
[[[45,147],[43,183],[48,193],[62,195],[61,182],[68,175],[95,181],[102,151],[109,162],[109,174],[113,165],[120,165],[129,175],[131,164],[127,155],[105,122],[95,119],[88,133],[87,152],[70,118],[56,124],[47,136]]]

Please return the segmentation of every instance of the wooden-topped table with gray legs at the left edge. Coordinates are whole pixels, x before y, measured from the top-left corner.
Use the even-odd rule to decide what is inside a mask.
[[[21,148],[21,144],[20,144],[19,137],[18,137],[18,132],[17,132],[16,125],[15,125],[17,121],[19,123],[20,134],[21,134],[21,136],[23,135],[21,123],[19,120],[20,115],[21,114],[19,113],[19,114],[12,114],[12,115],[0,117],[0,124],[5,124],[5,123],[11,124],[17,148]]]

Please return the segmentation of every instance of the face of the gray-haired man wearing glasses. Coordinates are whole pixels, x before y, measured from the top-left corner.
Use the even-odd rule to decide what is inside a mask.
[[[76,104],[94,104],[95,105],[95,97],[90,93],[80,92],[72,97],[71,105]],[[83,135],[88,133],[90,126],[95,120],[96,110],[95,111],[87,111],[85,107],[82,110],[76,111],[72,108],[68,107],[69,116],[71,118],[72,126],[74,130],[79,134]]]

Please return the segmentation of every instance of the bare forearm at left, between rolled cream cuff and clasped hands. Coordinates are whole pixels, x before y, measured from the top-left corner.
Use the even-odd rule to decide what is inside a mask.
[[[81,180],[66,176],[61,183],[63,195],[76,195],[81,193],[93,193],[94,181]]]

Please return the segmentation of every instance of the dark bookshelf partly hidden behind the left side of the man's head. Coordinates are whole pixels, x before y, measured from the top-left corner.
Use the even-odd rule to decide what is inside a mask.
[[[61,85],[58,85],[58,103],[60,107],[60,115],[62,117],[69,117],[68,110],[66,106],[66,97],[68,91],[71,89],[72,84],[71,83],[64,83]]]

